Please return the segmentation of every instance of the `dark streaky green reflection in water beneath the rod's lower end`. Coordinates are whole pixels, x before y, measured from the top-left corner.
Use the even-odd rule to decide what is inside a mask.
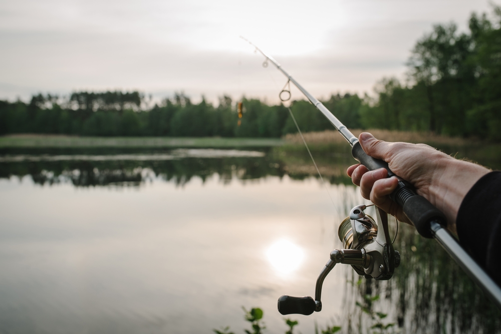
[[[399,232],[394,246],[402,261],[392,279],[359,280],[350,271],[350,288],[344,297],[349,332],[360,332],[360,328],[372,325],[366,312],[356,304],[363,303],[367,295],[380,296],[373,307],[393,315],[390,320],[402,332],[501,332],[501,311],[435,240],[414,231],[405,225]]]

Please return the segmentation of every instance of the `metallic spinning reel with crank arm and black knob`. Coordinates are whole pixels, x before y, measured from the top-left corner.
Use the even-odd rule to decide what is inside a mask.
[[[393,249],[388,232],[388,215],[376,206],[376,223],[364,212],[366,208],[364,204],[355,206],[339,226],[339,239],[346,249],[331,251],[329,261],[317,278],[315,299],[283,295],[278,301],[280,313],[310,315],[321,311],[322,284],[336,263],[351,264],[365,278],[387,280],[393,276],[393,270],[400,264],[400,254]]]

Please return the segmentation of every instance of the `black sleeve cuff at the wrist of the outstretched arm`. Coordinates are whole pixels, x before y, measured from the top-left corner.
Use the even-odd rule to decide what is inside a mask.
[[[459,242],[501,286],[501,171],[482,176],[468,191],[456,219]]]

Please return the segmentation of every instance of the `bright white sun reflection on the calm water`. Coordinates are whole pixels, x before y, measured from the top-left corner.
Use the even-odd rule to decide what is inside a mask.
[[[288,274],[296,270],[303,262],[305,253],[295,243],[282,239],[267,249],[266,255],[272,266],[280,274]]]

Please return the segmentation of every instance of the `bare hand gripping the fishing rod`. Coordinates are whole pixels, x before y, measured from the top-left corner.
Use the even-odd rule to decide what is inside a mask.
[[[449,226],[455,223],[457,211],[468,190],[489,172],[485,167],[457,160],[426,144],[386,142],[368,132],[362,132],[359,141],[368,155],[388,162],[391,171],[413,184],[419,195],[441,210]],[[347,172],[353,183],[360,185],[364,198],[398,220],[409,222],[402,207],[389,197],[397,186],[396,177],[386,178],[386,169],[369,171],[361,164],[350,166]]]

